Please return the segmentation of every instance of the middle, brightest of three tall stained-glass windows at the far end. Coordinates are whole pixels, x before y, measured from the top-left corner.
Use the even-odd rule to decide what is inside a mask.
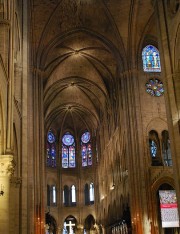
[[[75,140],[73,135],[65,133],[62,137],[62,167],[75,168]]]

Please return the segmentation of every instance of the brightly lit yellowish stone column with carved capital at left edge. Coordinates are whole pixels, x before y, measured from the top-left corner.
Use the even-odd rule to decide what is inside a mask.
[[[0,190],[4,192],[0,195],[0,233],[9,234],[9,187],[10,176],[14,171],[13,156],[0,155],[0,159]]]

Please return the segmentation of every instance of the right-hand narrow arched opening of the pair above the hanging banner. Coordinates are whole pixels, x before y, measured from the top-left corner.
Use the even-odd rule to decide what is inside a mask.
[[[164,130],[162,132],[162,154],[163,154],[164,164],[166,166],[172,166],[170,140],[169,140],[169,133],[167,130]]]

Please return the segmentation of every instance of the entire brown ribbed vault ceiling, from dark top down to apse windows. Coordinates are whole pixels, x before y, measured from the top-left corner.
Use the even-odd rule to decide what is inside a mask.
[[[32,7],[46,128],[77,134],[96,130],[110,105],[120,63],[110,13],[103,1],[94,0],[49,1],[44,7],[38,0]]]

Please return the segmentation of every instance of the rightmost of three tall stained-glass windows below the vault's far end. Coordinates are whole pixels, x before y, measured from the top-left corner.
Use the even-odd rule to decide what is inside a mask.
[[[88,131],[81,136],[81,157],[83,167],[92,165],[91,135]]]

